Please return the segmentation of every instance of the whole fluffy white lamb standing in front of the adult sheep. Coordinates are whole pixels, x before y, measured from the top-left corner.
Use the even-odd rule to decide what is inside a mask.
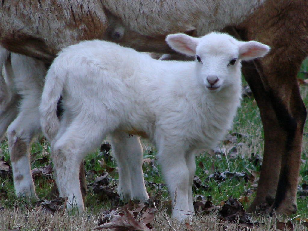
[[[173,201],[172,217],[181,221],[194,215],[195,152],[215,146],[232,125],[241,98],[240,61],[262,57],[270,48],[221,33],[201,38],[171,34],[166,41],[196,60],[160,61],[93,40],[63,49],[52,63],[40,105],[41,125],[52,141],[56,183],[60,196],[68,197],[68,209],[83,211],[79,164],[107,134],[119,166],[121,198],[149,198],[135,136],[140,135],[156,145]]]

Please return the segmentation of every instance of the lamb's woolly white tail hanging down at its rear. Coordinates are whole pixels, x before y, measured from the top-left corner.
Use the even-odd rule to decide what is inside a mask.
[[[55,138],[59,130],[60,121],[57,116],[57,105],[61,97],[65,81],[64,73],[57,71],[57,73],[62,74],[62,76],[58,76],[55,73],[55,70],[61,70],[61,68],[55,68],[55,65],[56,64],[54,62],[47,72],[42,100],[39,106],[42,131],[46,138],[50,141]]]

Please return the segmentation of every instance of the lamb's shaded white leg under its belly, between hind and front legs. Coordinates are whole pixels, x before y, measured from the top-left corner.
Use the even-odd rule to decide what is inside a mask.
[[[111,135],[111,147],[119,166],[118,193],[121,199],[147,201],[149,196],[144,185],[143,150],[139,137],[129,136],[124,132],[115,132]]]

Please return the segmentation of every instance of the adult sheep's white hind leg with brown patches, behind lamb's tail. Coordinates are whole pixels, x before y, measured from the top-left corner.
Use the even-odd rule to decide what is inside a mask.
[[[30,143],[40,132],[39,102],[46,69],[42,62],[12,54],[14,81],[22,95],[19,114],[7,129],[14,187],[17,196],[35,197],[30,172]]]

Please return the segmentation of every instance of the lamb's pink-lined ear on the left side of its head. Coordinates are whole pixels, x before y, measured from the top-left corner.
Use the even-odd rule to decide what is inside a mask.
[[[169,34],[166,37],[166,42],[177,52],[188,56],[195,56],[199,39],[187,34]]]

